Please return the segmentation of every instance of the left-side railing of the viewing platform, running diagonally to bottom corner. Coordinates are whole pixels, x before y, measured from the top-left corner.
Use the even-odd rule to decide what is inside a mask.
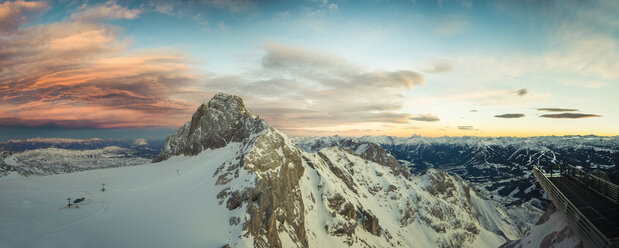
[[[546,194],[550,197],[550,200],[552,200],[557,209],[561,210],[562,215],[568,220],[572,229],[578,232],[584,247],[616,247],[613,242],[604,236],[604,234],[602,234],[602,232],[594,226],[591,221],[589,221],[589,219],[563,195],[563,193],[561,193],[537,166],[533,166],[533,175],[542,188],[544,188],[544,191],[546,191]]]

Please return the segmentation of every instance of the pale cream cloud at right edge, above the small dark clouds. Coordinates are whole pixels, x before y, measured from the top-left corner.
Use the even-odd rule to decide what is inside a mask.
[[[581,87],[599,87],[606,84],[604,81],[619,79],[618,40],[601,34],[579,33],[578,30],[557,31],[552,41],[555,47],[544,53],[474,55],[458,58],[456,62],[459,71],[469,72],[478,81],[486,82],[525,76],[552,76],[553,80],[562,84],[569,82]],[[572,83],[574,78],[587,78],[593,83]]]

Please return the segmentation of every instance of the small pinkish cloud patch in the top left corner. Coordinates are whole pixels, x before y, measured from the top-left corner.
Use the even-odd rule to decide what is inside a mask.
[[[21,24],[28,23],[30,16],[48,9],[46,2],[7,1],[0,4],[0,34],[11,34]]]

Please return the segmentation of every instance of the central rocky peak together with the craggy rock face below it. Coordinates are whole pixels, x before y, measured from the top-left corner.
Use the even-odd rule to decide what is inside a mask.
[[[282,239],[307,247],[304,216],[299,216],[304,209],[301,150],[253,115],[240,97],[218,93],[198,107],[191,121],[166,139],[154,162],[223,147],[232,149],[234,158],[220,165],[213,178],[222,187],[219,204],[240,214],[230,218],[230,225],[242,222],[242,236],[253,237],[255,247],[285,247]]]

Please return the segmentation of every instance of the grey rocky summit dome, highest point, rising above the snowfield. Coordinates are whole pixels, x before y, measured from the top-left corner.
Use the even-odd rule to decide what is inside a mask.
[[[268,125],[252,114],[238,96],[217,93],[202,104],[176,134],[166,139],[159,162],[174,155],[197,155],[206,149],[216,149],[231,142],[246,142],[256,138]]]

